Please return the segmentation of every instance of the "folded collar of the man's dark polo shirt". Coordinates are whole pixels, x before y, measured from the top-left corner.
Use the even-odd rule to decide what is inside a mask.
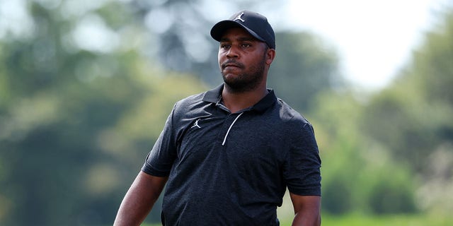
[[[222,90],[224,89],[224,84],[213,88],[212,90],[208,90],[203,97],[203,101],[217,103],[219,101],[220,96],[222,95]],[[271,107],[277,97],[275,96],[273,89],[268,89],[269,93],[263,97],[256,105],[253,105],[250,109],[255,110],[257,112],[264,112],[266,109]]]

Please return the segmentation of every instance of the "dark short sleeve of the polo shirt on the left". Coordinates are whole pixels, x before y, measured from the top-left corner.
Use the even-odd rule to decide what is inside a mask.
[[[176,106],[176,105],[175,105]],[[164,129],[161,131],[159,138],[154,147],[151,149],[142,167],[142,171],[156,176],[166,177],[170,174],[171,167],[177,156],[176,135],[173,129],[173,115],[175,107],[166,119]]]

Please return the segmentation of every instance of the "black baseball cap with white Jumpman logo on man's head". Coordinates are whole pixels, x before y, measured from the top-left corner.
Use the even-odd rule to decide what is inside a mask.
[[[240,11],[235,13],[228,20],[222,20],[211,28],[211,36],[220,42],[220,38],[229,28],[243,28],[253,37],[268,44],[268,47],[275,49],[275,33],[268,18],[251,11]]]

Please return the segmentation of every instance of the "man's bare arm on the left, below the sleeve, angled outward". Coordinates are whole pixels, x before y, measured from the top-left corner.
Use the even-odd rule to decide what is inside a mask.
[[[122,200],[113,225],[140,225],[159,198],[167,179],[139,172]]]

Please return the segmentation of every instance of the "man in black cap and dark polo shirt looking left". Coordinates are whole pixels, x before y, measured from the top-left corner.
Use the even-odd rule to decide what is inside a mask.
[[[321,225],[321,160],[311,124],[266,88],[275,58],[267,18],[241,11],[214,25],[224,84],[173,107],[127,191],[115,225],[139,225],[166,185],[164,225]]]

